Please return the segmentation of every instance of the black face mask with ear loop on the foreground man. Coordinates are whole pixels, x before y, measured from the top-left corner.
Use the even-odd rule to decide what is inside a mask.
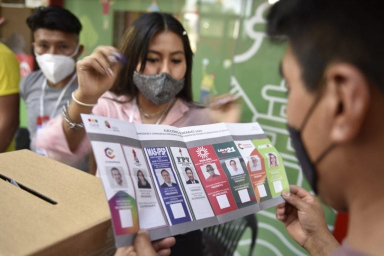
[[[308,152],[305,149],[304,143],[301,139],[301,131],[304,129],[305,124],[307,123],[309,116],[312,114],[313,109],[317,105],[318,101],[319,101],[319,97],[316,98],[316,100],[313,102],[313,104],[309,108],[301,124],[301,128],[299,130],[290,126],[288,123],[286,124],[289,132],[289,137],[292,141],[292,146],[296,152],[296,157],[298,159],[299,164],[301,165],[301,170],[305,178],[308,180],[310,187],[313,189],[315,193],[317,193],[317,187],[316,187],[317,173],[316,173],[315,165],[329,152],[330,149],[333,148],[333,144],[331,144],[317,157],[317,159],[314,162],[312,162],[309,158]]]

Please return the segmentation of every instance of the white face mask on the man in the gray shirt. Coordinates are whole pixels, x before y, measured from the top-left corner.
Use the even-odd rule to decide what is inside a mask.
[[[77,54],[78,48],[79,45],[76,46],[74,52],[69,56],[50,53],[40,55],[36,52],[34,52],[34,55],[46,79],[57,83],[73,72],[76,63],[72,57]]]

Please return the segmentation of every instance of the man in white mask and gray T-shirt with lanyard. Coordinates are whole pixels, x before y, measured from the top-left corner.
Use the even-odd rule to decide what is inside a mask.
[[[20,81],[20,96],[26,105],[30,149],[45,154],[34,146],[34,139],[44,123],[61,113],[78,86],[75,61],[83,49],[78,43],[81,24],[58,6],[37,7],[26,23],[33,31],[32,46],[40,70]]]

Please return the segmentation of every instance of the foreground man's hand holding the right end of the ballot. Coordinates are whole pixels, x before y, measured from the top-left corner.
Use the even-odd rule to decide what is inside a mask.
[[[327,255],[340,244],[329,232],[320,202],[304,188],[290,185],[286,200],[276,207],[276,218],[289,235],[311,255]]]

